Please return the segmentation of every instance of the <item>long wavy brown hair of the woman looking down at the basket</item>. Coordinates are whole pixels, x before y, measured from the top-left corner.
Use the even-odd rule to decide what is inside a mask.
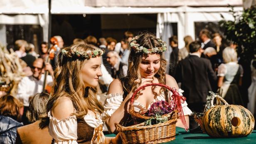
[[[147,49],[152,49],[154,47],[160,47],[160,43],[158,42],[157,38],[154,34],[150,33],[143,33],[138,36],[137,44],[140,44],[140,46],[143,46]],[[136,79],[140,79],[141,81],[141,75],[140,75],[140,68],[139,65],[141,63],[141,60],[143,56],[146,56],[143,53],[136,53],[134,49],[130,49],[130,55],[128,59],[128,71],[127,76],[124,78],[121,78],[121,83],[123,86],[123,96],[126,97],[128,93],[131,91],[133,83]],[[165,68],[166,68],[166,60],[162,57],[162,53],[158,53],[160,55],[160,68],[158,72],[155,74],[155,78],[158,79],[159,83],[165,84]],[[165,97],[167,99],[167,91],[164,88],[160,89],[160,92],[165,92]]]

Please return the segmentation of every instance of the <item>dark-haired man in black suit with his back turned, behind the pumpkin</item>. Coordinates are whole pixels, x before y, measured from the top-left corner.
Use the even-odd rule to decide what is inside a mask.
[[[216,81],[217,76],[212,70],[211,62],[200,58],[203,52],[201,44],[193,41],[189,48],[190,55],[178,64],[175,79],[177,83],[181,83],[190,110],[203,112],[208,92],[212,90],[210,83]],[[190,117],[190,129],[197,126],[198,124]]]

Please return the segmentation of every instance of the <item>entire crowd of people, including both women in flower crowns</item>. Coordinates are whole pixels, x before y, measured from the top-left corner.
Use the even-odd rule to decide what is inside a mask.
[[[74,39],[71,46],[64,46],[60,36],[54,38],[57,51],[49,62],[47,42],[36,54],[33,44],[15,41],[15,53],[27,63],[26,76],[18,84],[17,95],[0,97],[0,143],[118,144],[119,134],[104,137],[103,124],[109,133],[116,133],[115,123],[133,125],[130,98],[148,83],[170,86],[186,97],[181,105],[186,122],[178,117],[177,127],[198,127],[189,115],[203,112],[209,91],[219,93],[229,104],[247,107],[249,102],[246,80],[251,76],[244,76],[248,68],[239,64],[236,45],[225,45],[219,33],[211,39],[207,29],[199,34],[202,42],[184,37],[182,49],[177,36],[170,37],[170,63],[163,56],[166,43],[147,32],[136,37],[125,32],[120,42],[88,36]],[[148,110],[157,100],[170,103],[171,96],[164,88],[146,87],[133,103],[135,112]],[[254,104],[250,107],[254,109]]]

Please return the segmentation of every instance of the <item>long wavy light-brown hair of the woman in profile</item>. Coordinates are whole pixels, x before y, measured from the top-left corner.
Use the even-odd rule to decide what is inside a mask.
[[[97,100],[96,88],[86,87],[81,77],[81,69],[87,62],[86,59],[77,59],[71,56],[70,51],[93,51],[94,48],[88,44],[76,44],[71,47],[63,48],[68,51],[66,56],[58,55],[58,66],[54,71],[54,86],[51,96],[47,103],[47,112],[52,110],[56,100],[67,96],[71,99],[76,112],[73,115],[83,117],[88,110],[98,114],[103,113],[103,106]],[[69,58],[70,57],[70,58]],[[49,118],[44,116],[41,119],[40,127],[48,126]]]

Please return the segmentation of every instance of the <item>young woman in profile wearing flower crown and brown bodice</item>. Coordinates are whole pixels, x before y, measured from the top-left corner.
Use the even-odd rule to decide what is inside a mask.
[[[102,54],[87,44],[60,51],[48,115],[40,122],[41,128],[49,127],[54,144],[117,143],[119,136],[104,137],[103,107],[96,97]]]

